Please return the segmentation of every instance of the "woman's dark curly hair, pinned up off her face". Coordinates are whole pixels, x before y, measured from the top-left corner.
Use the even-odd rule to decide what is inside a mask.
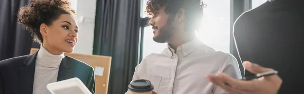
[[[18,12],[18,23],[29,30],[34,41],[43,42],[40,33],[40,25],[51,25],[59,19],[61,14],[69,14],[75,17],[75,11],[71,9],[67,0],[32,0],[27,6],[21,7]]]

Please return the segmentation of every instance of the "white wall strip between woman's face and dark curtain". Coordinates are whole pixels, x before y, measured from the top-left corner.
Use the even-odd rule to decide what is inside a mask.
[[[77,3],[79,25],[78,43],[73,53],[92,54],[95,28],[96,0],[70,0],[71,5]]]

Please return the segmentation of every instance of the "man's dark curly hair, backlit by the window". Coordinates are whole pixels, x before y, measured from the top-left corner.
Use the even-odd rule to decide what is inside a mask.
[[[184,9],[186,30],[194,31],[200,27],[204,8],[202,0],[147,0],[145,13],[153,16],[161,7],[165,7],[165,12],[173,16]]]

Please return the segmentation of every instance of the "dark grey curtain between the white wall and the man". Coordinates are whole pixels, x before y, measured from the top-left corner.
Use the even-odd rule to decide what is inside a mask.
[[[138,62],[140,0],[98,0],[94,55],[111,56],[109,94],[125,93]],[[96,88],[98,89],[98,88]]]

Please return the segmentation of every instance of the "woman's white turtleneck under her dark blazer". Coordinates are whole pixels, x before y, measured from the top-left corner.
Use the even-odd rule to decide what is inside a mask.
[[[49,83],[57,81],[62,58],[64,58],[63,54],[53,55],[43,47],[43,44],[41,44],[36,57],[33,94],[51,93],[46,86]]]

